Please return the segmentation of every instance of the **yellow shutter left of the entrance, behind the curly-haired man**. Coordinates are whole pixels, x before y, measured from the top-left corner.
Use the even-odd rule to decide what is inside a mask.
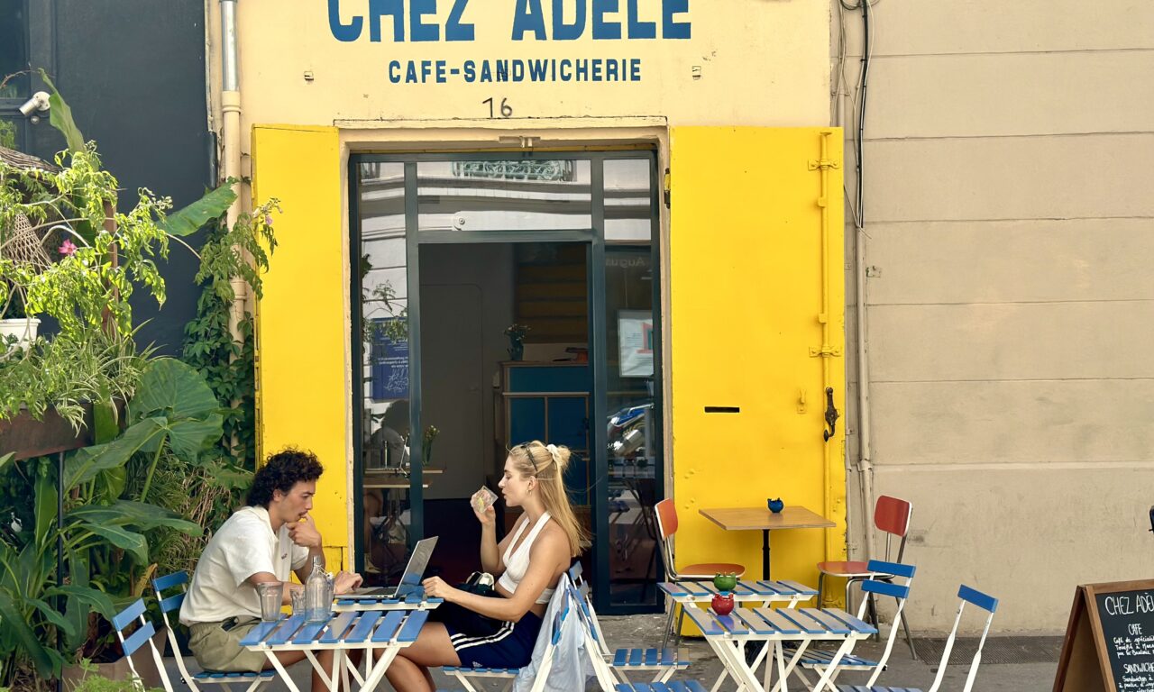
[[[253,196],[283,209],[257,314],[257,441],[263,454],[295,445],[324,465],[313,516],[330,569],[349,566],[351,535],[342,179],[336,128],[253,128]]]

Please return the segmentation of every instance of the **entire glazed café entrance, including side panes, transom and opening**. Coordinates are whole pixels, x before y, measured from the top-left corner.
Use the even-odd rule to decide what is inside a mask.
[[[574,452],[594,602],[658,610],[655,153],[354,156],[350,179],[358,567],[395,582],[413,541],[436,535],[430,572],[466,578],[469,497],[540,439]],[[518,511],[497,513],[500,537]]]

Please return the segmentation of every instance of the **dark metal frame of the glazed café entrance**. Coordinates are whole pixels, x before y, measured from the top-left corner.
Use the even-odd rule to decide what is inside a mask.
[[[478,161],[478,160],[510,160],[510,159],[572,159],[590,161],[590,197],[591,197],[591,221],[589,228],[563,230],[563,231],[419,231],[420,200],[418,197],[417,164],[421,161]],[[591,496],[590,511],[593,518],[594,535],[607,535],[609,532],[609,516],[605,511],[608,506],[608,446],[607,429],[605,421],[608,415],[607,388],[608,366],[606,362],[607,339],[606,339],[606,314],[605,314],[605,168],[606,160],[617,159],[647,159],[650,161],[650,261],[653,268],[653,319],[654,319],[654,371],[653,371],[653,399],[660,403],[662,415],[652,416],[655,423],[653,439],[660,445],[659,453],[655,454],[657,467],[654,468],[654,481],[658,483],[658,496],[665,494],[665,436],[662,430],[664,411],[666,407],[665,392],[662,388],[662,344],[661,344],[661,242],[660,242],[660,209],[659,204],[659,179],[655,149],[630,149],[621,151],[584,151],[584,150],[557,150],[557,151],[494,151],[494,152],[444,152],[444,153],[407,153],[407,155],[377,155],[377,153],[354,153],[349,157],[349,243],[350,243],[350,298],[351,311],[351,343],[352,343],[352,391],[353,397],[353,517],[355,529],[354,559],[358,571],[364,571],[364,550],[361,546],[364,536],[364,468],[362,468],[362,443],[364,435],[361,420],[364,414],[364,344],[357,334],[362,329],[362,310],[355,301],[361,295],[361,266],[360,266],[360,224],[359,224],[359,165],[364,163],[402,163],[405,166],[405,272],[406,272],[406,304],[409,317],[409,411],[410,430],[421,430],[421,333],[420,333],[420,247],[422,245],[462,245],[462,243],[520,243],[520,242],[577,242],[586,246],[586,281],[589,288],[586,295],[589,300],[589,346],[590,363],[592,364],[592,418],[591,418],[591,441],[590,450],[593,454],[593,466],[591,479],[593,492]],[[410,432],[412,434],[412,432]],[[421,445],[410,447],[410,517],[409,535],[411,541],[424,536],[425,532],[425,492],[422,488],[424,468],[421,459]],[[662,607],[643,604],[617,604],[613,606],[609,600],[609,543],[610,541],[593,542],[593,599],[594,606],[607,615],[629,615],[635,612],[655,612]],[[659,548],[659,547],[658,547]],[[660,579],[661,566],[659,563],[657,578]]]

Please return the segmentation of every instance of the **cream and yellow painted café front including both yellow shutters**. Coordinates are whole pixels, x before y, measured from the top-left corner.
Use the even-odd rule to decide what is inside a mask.
[[[336,3],[338,24],[362,17],[350,42],[334,37],[325,2],[238,5],[253,197],[284,208],[258,313],[258,436],[265,451],[297,444],[325,462],[315,514],[331,558],[350,566],[353,543],[349,157],[526,144],[647,145],[659,170],[669,168],[672,205],[660,219],[665,453],[680,562],[741,562],[756,576],[759,533],[727,534],[697,511],[778,496],[838,527],[774,535],[774,577],[812,584],[816,562],[844,556],[840,421],[822,438],[826,386],[845,411],[841,135],[825,127],[827,3],[695,0],[677,15],[691,38],[664,39],[662,3],[639,0],[638,18],[652,18],[659,38],[594,40],[586,31],[516,42],[515,2],[473,0],[464,20],[475,38],[456,43],[397,43],[390,17],[373,42],[367,0]],[[442,37],[454,5],[427,17]],[[552,3],[542,5],[552,28]],[[609,17],[623,33],[625,7]],[[218,46],[211,53],[218,59]],[[639,81],[390,82],[394,60],[430,60],[435,70],[437,60],[460,68],[598,57],[639,60]]]

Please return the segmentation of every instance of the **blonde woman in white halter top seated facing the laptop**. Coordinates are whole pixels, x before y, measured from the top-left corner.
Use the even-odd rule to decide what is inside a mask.
[[[564,472],[569,450],[533,441],[509,450],[501,495],[523,513],[512,532],[496,541],[493,507],[481,522],[481,569],[497,577],[492,596],[454,588],[433,577],[429,596],[444,599],[411,646],[400,649],[387,677],[398,692],[433,692],[429,668],[464,665],[520,668],[533,654],[541,617],[557,580],[589,546],[577,522]]]

